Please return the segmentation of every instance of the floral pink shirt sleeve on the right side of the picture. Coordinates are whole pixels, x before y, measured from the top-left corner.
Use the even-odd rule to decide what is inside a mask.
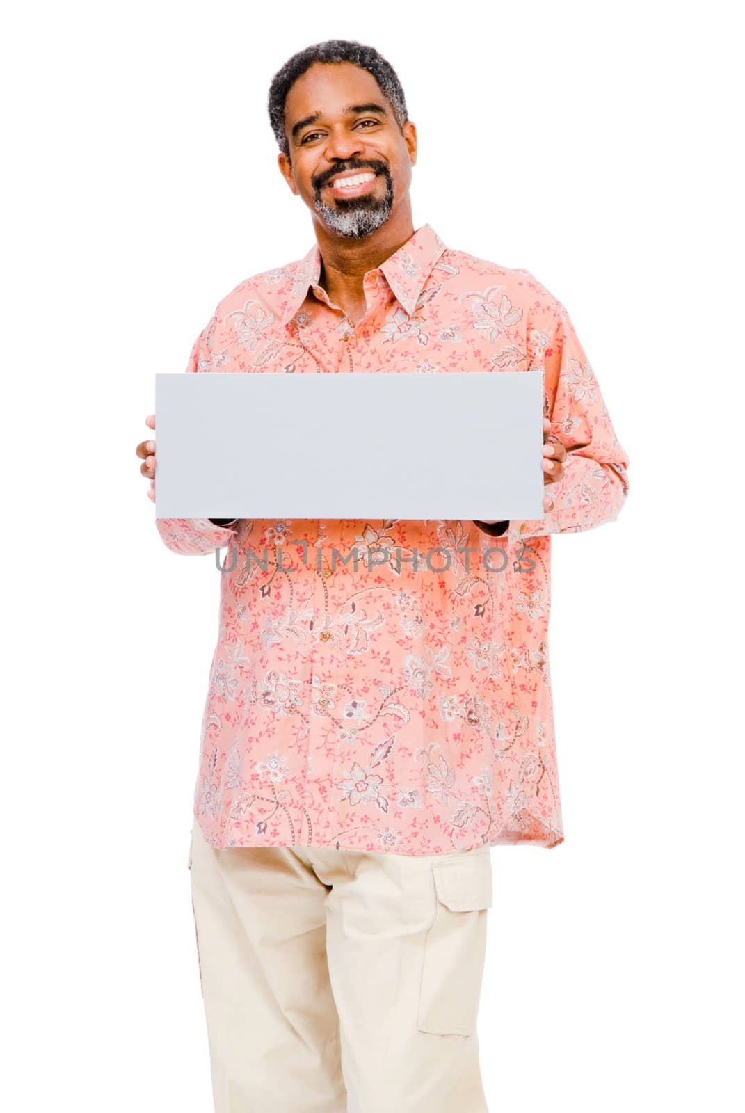
[[[615,521],[628,494],[628,456],[618,442],[590,362],[565,306],[529,275],[537,297],[530,313],[531,370],[543,367],[549,433],[567,450],[563,476],[543,487],[542,519],[511,521],[508,536],[575,533]]]

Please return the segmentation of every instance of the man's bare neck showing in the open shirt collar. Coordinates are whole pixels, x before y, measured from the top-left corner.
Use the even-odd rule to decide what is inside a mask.
[[[364,309],[364,276],[411,239],[414,226],[409,209],[399,220],[386,220],[363,239],[331,235],[318,221],[315,221],[315,234],[322,260],[318,280],[331,302],[345,312],[351,309],[353,315],[360,307]],[[356,316],[361,313],[356,312]]]

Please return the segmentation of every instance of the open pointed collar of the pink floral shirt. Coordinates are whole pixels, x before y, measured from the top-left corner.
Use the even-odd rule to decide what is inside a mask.
[[[434,228],[423,224],[405,244],[381,263],[380,269],[408,316],[414,312],[419,295],[444,250],[447,247]],[[316,243],[307,255],[295,264],[281,318],[282,325],[287,325],[292,321],[307,297],[308,288],[317,285],[320,276],[321,250]]]

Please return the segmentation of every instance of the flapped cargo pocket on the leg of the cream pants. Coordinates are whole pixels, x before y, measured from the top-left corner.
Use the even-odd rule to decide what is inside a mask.
[[[489,848],[432,864],[434,922],[424,938],[416,1026],[437,1035],[474,1035],[491,908]]]

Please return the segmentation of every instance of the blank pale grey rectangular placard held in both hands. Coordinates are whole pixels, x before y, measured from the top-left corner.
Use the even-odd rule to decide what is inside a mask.
[[[156,374],[158,518],[543,516],[543,372]]]

